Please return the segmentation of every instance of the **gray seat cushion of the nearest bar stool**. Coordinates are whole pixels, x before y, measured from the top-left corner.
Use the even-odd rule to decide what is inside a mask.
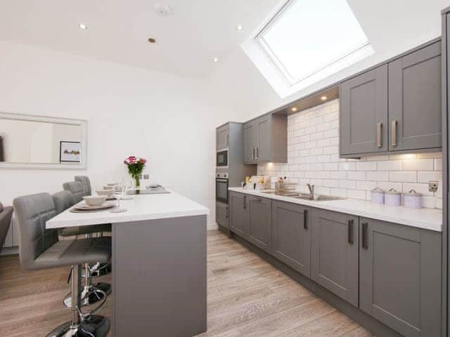
[[[63,240],[53,244],[36,259],[39,269],[82,265],[84,263],[108,263],[111,259],[111,237]]]

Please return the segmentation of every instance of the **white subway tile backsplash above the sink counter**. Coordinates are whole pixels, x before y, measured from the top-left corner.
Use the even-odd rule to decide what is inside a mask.
[[[428,192],[428,180],[442,180],[441,152],[339,157],[338,100],[288,117],[288,163],[260,164],[257,171],[272,181],[287,176],[302,192],[307,192],[307,183],[314,183],[321,194],[353,199],[371,199],[375,187],[413,189],[424,194],[425,207],[442,208],[440,189]]]

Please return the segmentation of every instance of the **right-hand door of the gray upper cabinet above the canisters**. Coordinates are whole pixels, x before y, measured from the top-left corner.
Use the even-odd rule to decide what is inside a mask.
[[[441,43],[389,63],[390,150],[442,146]]]

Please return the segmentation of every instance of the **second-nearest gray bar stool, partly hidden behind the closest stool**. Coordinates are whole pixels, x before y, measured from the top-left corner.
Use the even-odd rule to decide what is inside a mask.
[[[60,191],[52,195],[53,202],[55,204],[56,215],[62,213],[66,209],[72,207],[75,204],[73,194],[69,191]],[[60,237],[74,237],[77,235],[84,235],[86,239],[89,239],[89,234],[96,232],[103,232],[107,230],[107,225],[92,225],[82,227],[68,227],[58,230]],[[107,239],[107,238],[106,238]],[[103,300],[103,295],[108,296],[111,293],[111,285],[105,282],[92,283],[92,272],[98,270],[101,267],[97,262],[94,265],[84,263],[84,286],[81,293],[82,306],[92,305],[99,300]],[[72,305],[72,296],[69,293],[63,300],[67,307]]]

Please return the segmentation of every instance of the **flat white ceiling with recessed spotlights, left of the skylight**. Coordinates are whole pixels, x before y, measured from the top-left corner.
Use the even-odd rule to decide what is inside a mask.
[[[278,2],[0,0],[0,39],[203,78]],[[158,16],[154,11],[158,3],[171,6],[174,14]],[[79,29],[79,22],[88,29]],[[237,31],[238,24],[243,25],[242,32]],[[148,37],[155,37],[157,44],[148,44]],[[219,62],[212,62],[214,56]]]

